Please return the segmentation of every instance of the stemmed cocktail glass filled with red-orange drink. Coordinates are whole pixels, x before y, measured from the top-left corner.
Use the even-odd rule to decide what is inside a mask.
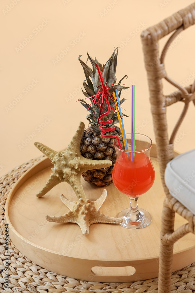
[[[150,159],[151,139],[144,134],[135,134],[135,151],[131,151],[131,133],[126,134],[128,150],[120,149],[115,139],[116,161],[112,172],[115,187],[130,198],[130,208],[122,210],[117,217],[123,217],[119,225],[137,229],[149,225],[151,214],[138,209],[137,200],[153,185],[155,173]]]

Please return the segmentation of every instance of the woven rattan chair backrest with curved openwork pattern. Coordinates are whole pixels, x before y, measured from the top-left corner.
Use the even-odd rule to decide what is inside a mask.
[[[182,87],[176,81],[167,76],[164,58],[171,42],[182,30],[185,30],[193,24],[195,24],[195,3],[141,33],[144,62],[148,76],[153,127],[156,137],[157,158],[160,166],[161,180],[167,196],[170,195],[164,182],[165,168],[167,163],[174,158],[173,143],[175,135],[187,113],[189,102],[193,100],[195,105],[195,82],[190,86]],[[159,40],[172,32],[173,34],[165,44],[160,55],[158,49]],[[178,88],[178,91],[175,91],[168,96],[163,95],[163,85],[161,80],[163,78]],[[184,103],[184,108],[169,139],[166,107],[178,101]]]

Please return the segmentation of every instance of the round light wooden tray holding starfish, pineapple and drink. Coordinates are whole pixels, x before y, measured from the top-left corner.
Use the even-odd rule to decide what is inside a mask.
[[[51,223],[45,215],[58,216],[68,212],[60,194],[77,200],[68,183],[61,183],[44,197],[36,193],[51,174],[51,161],[44,159],[30,168],[14,185],[6,201],[5,214],[9,236],[27,258],[41,267],[68,277],[97,282],[127,282],[158,276],[161,211],[164,192],[161,185],[156,148],[151,160],[156,178],[153,187],[140,196],[138,206],[148,210],[152,223],[142,229],[126,229],[118,224],[92,224],[89,235],[82,235],[74,223]],[[96,200],[103,187],[82,180],[87,198]],[[100,211],[116,217],[130,206],[129,198],[113,184],[106,187],[107,198]],[[175,228],[186,222],[176,214]],[[174,245],[172,271],[195,261],[195,235],[187,234]]]

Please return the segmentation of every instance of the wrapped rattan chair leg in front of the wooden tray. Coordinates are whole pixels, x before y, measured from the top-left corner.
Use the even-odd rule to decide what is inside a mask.
[[[163,236],[174,231],[175,212],[167,205],[166,200],[163,205],[162,221],[161,221],[161,244],[159,256],[159,272],[158,272],[158,293],[170,293],[171,287],[171,270],[173,243],[166,244]]]

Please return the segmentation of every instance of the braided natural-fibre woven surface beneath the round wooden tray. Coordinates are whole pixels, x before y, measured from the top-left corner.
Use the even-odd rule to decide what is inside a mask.
[[[99,283],[75,280],[69,277],[58,275],[54,272],[49,272],[44,268],[27,259],[12,242],[9,242],[8,253],[9,257],[9,288],[5,288],[5,234],[4,234],[4,207],[8,194],[13,187],[13,184],[20,178],[25,171],[40,161],[43,156],[38,159],[33,159],[23,165],[14,168],[8,174],[0,178],[0,195],[1,195],[1,229],[0,229],[0,253],[1,253],[1,275],[0,275],[0,293],[1,292],[32,292],[32,293],[62,293],[62,292],[126,292],[126,293],[142,293],[142,292],[157,292],[158,278],[126,282],[126,283]],[[183,268],[180,271],[174,272],[172,275],[171,292],[195,292],[195,263]]]

